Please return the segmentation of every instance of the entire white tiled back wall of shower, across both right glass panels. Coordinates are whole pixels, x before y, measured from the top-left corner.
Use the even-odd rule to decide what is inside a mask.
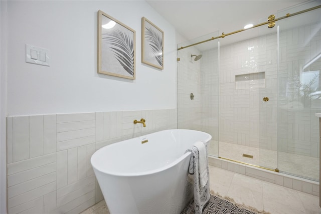
[[[220,48],[220,141],[269,150],[279,146],[283,152],[318,157],[314,114],[321,101],[311,100],[304,106],[306,103],[295,102],[295,97],[300,68],[321,53],[321,32],[318,24],[281,32],[278,72],[276,39],[276,34],[271,34]],[[319,61],[313,65],[316,68],[310,69],[320,70]],[[265,88],[248,81],[236,89],[236,75],[258,72],[265,72]],[[269,101],[263,102],[263,97]]]

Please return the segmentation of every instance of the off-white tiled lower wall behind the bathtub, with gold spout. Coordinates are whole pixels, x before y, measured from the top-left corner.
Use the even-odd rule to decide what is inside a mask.
[[[133,124],[140,118],[146,127]],[[103,199],[96,150],[172,128],[177,109],[8,117],[9,213],[79,213]]]

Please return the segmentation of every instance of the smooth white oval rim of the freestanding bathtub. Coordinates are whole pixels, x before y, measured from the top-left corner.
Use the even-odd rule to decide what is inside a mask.
[[[198,131],[198,130],[192,130],[192,129],[166,129],[166,130],[157,131],[157,132],[173,131],[173,130],[175,130],[175,131],[183,130],[183,131],[193,131],[193,132],[205,133],[205,134],[208,135],[208,137],[204,141],[200,140],[200,141],[205,142],[205,143],[208,143],[212,139],[212,136],[209,133],[203,132],[203,131]],[[157,133],[157,132],[152,132],[150,134]],[[144,136],[144,135],[142,135],[142,136]],[[130,138],[130,139],[135,139],[135,138],[139,138],[139,137],[134,137],[134,138]],[[122,140],[122,141],[124,141],[124,140]],[[119,142],[122,142],[122,141],[119,141]],[[115,143],[112,143],[112,144],[109,144],[109,145],[106,145],[104,147],[99,148],[97,151],[99,151],[100,149],[106,148],[106,147],[110,147],[110,146],[116,146],[116,145],[115,145]],[[95,151],[94,154],[92,154],[92,156],[90,158],[90,163],[91,163],[93,169],[97,170],[97,171],[99,171],[101,173],[104,173],[104,174],[113,175],[113,176],[120,176],[120,177],[135,177],[135,176],[150,175],[150,174],[155,174],[155,173],[158,173],[158,172],[162,172],[162,171],[165,171],[166,169],[169,169],[169,168],[175,166],[177,163],[179,163],[180,161],[185,159],[187,156],[191,155],[190,151],[186,151],[183,155],[181,155],[175,161],[173,161],[170,164],[167,164],[167,165],[165,165],[163,167],[159,167],[159,168],[152,169],[152,170],[147,170],[147,171],[144,171],[144,172],[121,172],[121,173],[119,173],[119,172],[111,172],[111,171],[107,171],[107,170],[101,170],[101,169],[95,167],[94,164],[93,164],[93,156],[95,155],[95,153],[97,151]]]

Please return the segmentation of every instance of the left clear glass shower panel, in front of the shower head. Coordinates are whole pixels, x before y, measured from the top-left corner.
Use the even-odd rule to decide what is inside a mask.
[[[208,38],[213,32],[178,44],[178,49]],[[208,153],[219,155],[219,47],[218,40],[178,50],[178,128],[212,135]]]

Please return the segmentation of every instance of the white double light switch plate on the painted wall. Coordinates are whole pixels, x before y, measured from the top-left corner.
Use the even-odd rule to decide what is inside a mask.
[[[26,44],[26,62],[50,66],[50,51],[45,48]]]

